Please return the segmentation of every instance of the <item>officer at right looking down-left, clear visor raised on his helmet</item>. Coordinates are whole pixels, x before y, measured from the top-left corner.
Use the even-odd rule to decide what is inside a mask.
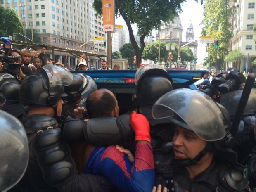
[[[157,100],[152,115],[175,130],[173,152],[155,157],[156,186],[178,192],[248,191],[247,180],[233,166],[238,165],[230,149],[234,138],[223,106],[203,92],[176,89]]]

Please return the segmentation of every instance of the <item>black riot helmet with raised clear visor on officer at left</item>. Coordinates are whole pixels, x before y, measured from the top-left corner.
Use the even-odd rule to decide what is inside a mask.
[[[67,96],[64,86],[72,80],[73,75],[61,66],[45,65],[21,82],[19,99],[26,105],[53,106]]]

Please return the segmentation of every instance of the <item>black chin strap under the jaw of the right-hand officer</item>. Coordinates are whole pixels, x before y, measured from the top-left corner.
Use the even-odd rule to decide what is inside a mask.
[[[206,155],[207,152],[213,151],[213,142],[208,142],[207,145],[204,147],[204,149],[199,152],[197,156],[195,156],[194,159],[174,159],[174,161],[180,165],[180,166],[191,166],[196,164],[198,161],[202,159],[203,156]]]

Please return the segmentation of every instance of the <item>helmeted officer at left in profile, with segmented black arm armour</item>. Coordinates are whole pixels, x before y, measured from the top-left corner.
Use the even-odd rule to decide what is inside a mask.
[[[28,105],[22,123],[29,142],[29,164],[19,187],[27,191],[109,191],[108,180],[78,174],[71,152],[57,129],[62,112],[64,85],[73,76],[55,65],[39,68],[21,83],[20,100]]]

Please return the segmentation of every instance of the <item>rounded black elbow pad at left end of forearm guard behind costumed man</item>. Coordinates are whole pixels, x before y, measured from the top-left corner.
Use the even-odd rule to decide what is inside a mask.
[[[62,124],[62,135],[67,141],[82,141],[85,125],[86,122],[81,119],[69,119]]]

